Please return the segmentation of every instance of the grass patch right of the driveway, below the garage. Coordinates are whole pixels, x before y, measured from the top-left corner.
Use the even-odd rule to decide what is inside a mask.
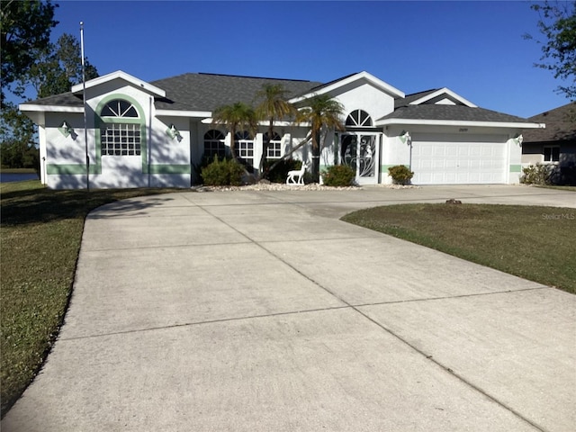
[[[342,220],[576,293],[576,209],[401,204]]]

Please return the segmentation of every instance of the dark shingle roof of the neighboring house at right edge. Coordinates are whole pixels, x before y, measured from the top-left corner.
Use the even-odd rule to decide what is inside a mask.
[[[529,120],[546,123],[546,129],[524,130],[523,142],[576,141],[576,102],[536,114]]]

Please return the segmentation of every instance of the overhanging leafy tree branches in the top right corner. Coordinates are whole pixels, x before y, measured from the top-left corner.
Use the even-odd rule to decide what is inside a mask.
[[[542,45],[541,63],[536,67],[551,70],[554,78],[566,82],[559,85],[560,93],[570,99],[576,98],[576,2],[548,2],[530,6],[538,14],[538,29],[545,36]],[[529,34],[526,39],[533,39]]]

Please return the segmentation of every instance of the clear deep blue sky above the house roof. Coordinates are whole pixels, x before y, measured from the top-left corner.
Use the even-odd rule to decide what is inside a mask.
[[[79,39],[100,75],[186,72],[328,82],[365,70],[406,94],[448,87],[529,117],[568,103],[541,57],[527,1],[59,1],[57,40]]]

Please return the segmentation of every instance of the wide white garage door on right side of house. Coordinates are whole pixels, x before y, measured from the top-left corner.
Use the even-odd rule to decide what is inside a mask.
[[[507,137],[428,135],[412,139],[413,184],[506,183]]]

